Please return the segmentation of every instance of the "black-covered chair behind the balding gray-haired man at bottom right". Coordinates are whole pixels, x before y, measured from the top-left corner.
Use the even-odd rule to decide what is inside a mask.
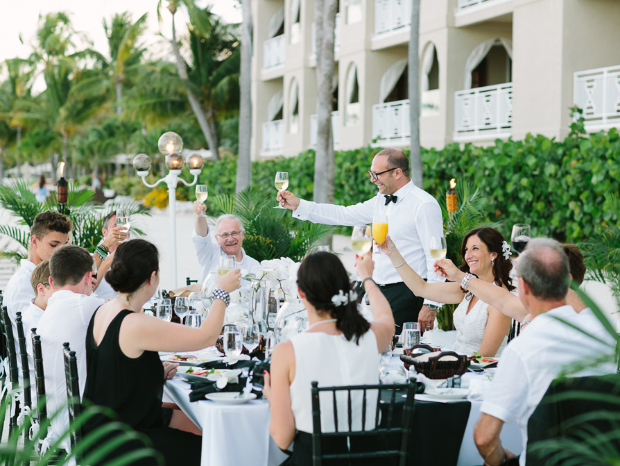
[[[612,464],[620,451],[619,424],[619,374],[558,379],[528,419],[527,453],[522,454],[528,466],[585,465],[592,458],[603,464],[608,453]],[[537,445],[541,441],[548,448]]]

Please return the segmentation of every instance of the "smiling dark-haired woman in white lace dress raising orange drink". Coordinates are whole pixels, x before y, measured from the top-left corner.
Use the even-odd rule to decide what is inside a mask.
[[[388,236],[389,238],[389,236]],[[416,296],[442,303],[460,303],[454,310],[456,343],[459,353],[482,356],[499,356],[506,346],[510,317],[496,308],[480,301],[472,293],[460,288],[460,283],[427,283],[416,274],[398,252],[392,240],[386,240],[381,249],[390,256],[404,283]],[[463,238],[460,248],[463,256],[463,272],[470,272],[481,280],[515,292],[510,278],[513,263],[510,260],[510,246],[499,231],[494,228],[476,228]],[[424,329],[422,329],[424,330]]]

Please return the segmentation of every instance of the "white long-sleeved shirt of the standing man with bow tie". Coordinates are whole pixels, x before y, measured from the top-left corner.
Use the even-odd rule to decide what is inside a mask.
[[[378,193],[368,201],[354,206],[334,206],[300,199],[293,217],[326,225],[361,226],[372,224],[374,215],[388,217],[388,234],[394,244],[418,275],[429,283],[440,283],[445,278],[433,272],[435,259],[431,258],[431,236],[443,236],[443,221],[439,203],[428,192],[409,181],[394,193],[396,203],[386,206],[386,197]],[[397,270],[385,254],[374,254],[375,282],[386,285],[402,282]],[[424,300],[424,304],[438,304]]]

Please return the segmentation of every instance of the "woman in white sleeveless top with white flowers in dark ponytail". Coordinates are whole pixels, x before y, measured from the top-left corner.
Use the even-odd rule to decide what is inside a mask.
[[[275,347],[263,391],[271,403],[269,432],[273,440],[281,449],[289,448],[295,440],[287,465],[311,464],[312,381],[323,387],[379,383],[379,353],[391,344],[394,318],[388,301],[370,278],[373,267],[370,253],[358,258],[357,273],[374,316],[369,324],[357,310],[349,277],[337,256],[317,252],[300,265],[297,284],[310,326]],[[346,394],[340,395],[338,424],[348,426]],[[373,399],[372,391],[368,392],[367,429],[374,428],[376,403],[377,394]],[[352,392],[352,404],[352,428],[361,431],[361,392]],[[331,397],[329,401],[321,397],[323,432],[335,431],[332,406]],[[373,445],[366,443],[362,451],[372,451]]]

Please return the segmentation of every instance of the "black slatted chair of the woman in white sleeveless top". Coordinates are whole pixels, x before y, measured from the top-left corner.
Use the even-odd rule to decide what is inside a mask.
[[[400,401],[400,395],[404,390],[406,390],[407,397],[402,419],[394,419],[395,405],[397,401]],[[413,401],[416,390],[417,383],[415,381],[409,381],[408,384],[401,385],[351,385],[347,387],[319,387],[318,382],[312,382],[313,466],[322,465],[324,460],[336,460],[338,463],[342,463],[343,460],[376,461],[379,460],[379,458],[394,458],[394,460],[397,460],[399,466],[405,466],[408,456],[409,435],[413,422]],[[372,430],[365,429],[366,411],[368,407],[367,394],[369,391],[377,393],[377,406],[374,407],[374,422],[376,427]],[[331,392],[334,410],[334,428],[336,432],[322,432],[320,417],[321,408],[319,402],[319,394],[321,392]],[[347,393],[347,426],[338,426],[337,392]],[[352,406],[351,392],[362,392],[361,431],[352,430],[352,410],[354,407]],[[384,392],[384,394],[382,395],[381,392]],[[390,396],[386,398],[385,392],[388,392]],[[379,402],[380,400],[382,400],[382,402]],[[372,407],[369,409],[372,409]],[[394,437],[395,435],[400,436],[400,448],[390,449],[387,447],[387,438]],[[338,442],[338,440],[342,442],[341,445],[347,445],[347,443],[350,442],[351,447],[341,448],[340,451],[334,453],[325,453],[324,444],[327,442],[333,444],[334,442]],[[356,440],[358,444],[360,442],[372,442],[374,440],[377,443],[385,444],[386,447],[384,447],[384,449],[372,449],[373,451],[361,451],[363,449],[355,447],[353,440]],[[383,441],[381,442],[381,440]],[[357,451],[355,451],[356,449]],[[385,464],[384,460],[382,463]],[[346,462],[343,464],[346,464]]]

